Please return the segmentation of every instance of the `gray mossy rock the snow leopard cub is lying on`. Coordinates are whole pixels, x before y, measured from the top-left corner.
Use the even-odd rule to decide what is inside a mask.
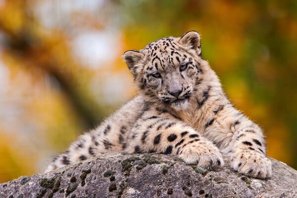
[[[0,198],[297,198],[297,171],[272,160],[259,180],[210,170],[162,154],[106,154],[0,184]]]

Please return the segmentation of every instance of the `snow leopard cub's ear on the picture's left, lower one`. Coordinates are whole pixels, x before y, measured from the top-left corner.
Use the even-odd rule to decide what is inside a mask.
[[[138,50],[128,50],[125,51],[123,57],[132,74],[137,75],[138,64],[145,58],[145,54]]]

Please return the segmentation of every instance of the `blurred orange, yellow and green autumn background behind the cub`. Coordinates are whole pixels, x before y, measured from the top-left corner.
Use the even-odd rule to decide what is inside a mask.
[[[190,30],[268,155],[297,169],[296,0],[0,0],[0,183],[136,95],[125,50]]]

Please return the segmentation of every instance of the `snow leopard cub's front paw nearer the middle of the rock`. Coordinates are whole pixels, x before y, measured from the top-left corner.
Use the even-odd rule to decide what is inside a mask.
[[[210,142],[200,141],[185,145],[178,156],[187,164],[195,164],[202,168],[224,166],[222,153]]]

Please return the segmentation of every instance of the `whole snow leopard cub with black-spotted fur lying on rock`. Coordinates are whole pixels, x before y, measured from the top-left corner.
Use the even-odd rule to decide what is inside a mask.
[[[125,61],[139,95],[56,156],[45,172],[106,152],[159,152],[200,167],[224,165],[255,178],[271,176],[261,129],[238,111],[202,59],[199,34],[168,37]]]

